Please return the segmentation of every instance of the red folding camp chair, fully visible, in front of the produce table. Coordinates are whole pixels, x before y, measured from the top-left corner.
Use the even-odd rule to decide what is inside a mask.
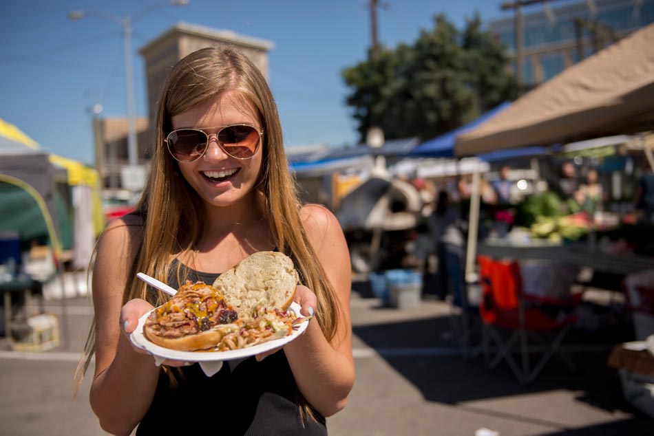
[[[518,381],[527,384],[536,379],[556,353],[574,371],[574,363],[559,346],[577,320],[571,309],[581,295],[569,300],[530,298],[522,292],[518,262],[497,261],[485,256],[478,256],[477,262],[482,288],[479,312],[484,325],[486,366],[493,369],[506,360]],[[491,342],[497,351],[494,356]],[[532,345],[534,342],[545,346],[545,351],[531,367],[531,353],[538,351]],[[520,355],[520,364],[514,358],[516,352]]]

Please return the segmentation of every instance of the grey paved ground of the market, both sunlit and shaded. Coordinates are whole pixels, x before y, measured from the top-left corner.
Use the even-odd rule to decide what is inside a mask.
[[[536,382],[522,386],[504,365],[487,371],[481,359],[461,358],[445,303],[425,298],[415,309],[380,307],[366,283],[354,287],[357,382],[346,409],[328,419],[332,436],[472,436],[480,428],[501,436],[653,434],[654,421],[625,404],[615,371],[605,364],[611,344],[630,339],[628,325],[574,332],[566,343],[576,350],[578,371],[553,360]],[[67,321],[65,345],[42,353],[0,351],[1,435],[104,434],[88,405],[88,380],[72,400],[90,303],[69,298],[66,306],[64,319],[57,301],[46,305]]]

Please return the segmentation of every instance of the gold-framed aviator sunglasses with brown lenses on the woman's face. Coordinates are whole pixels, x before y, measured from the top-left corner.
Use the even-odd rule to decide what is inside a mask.
[[[236,159],[249,159],[259,149],[261,135],[264,133],[249,124],[232,124],[206,130],[215,133],[200,129],[177,129],[171,131],[164,142],[176,160],[188,163],[195,162],[204,155],[209,146],[209,138],[215,135],[222,151]]]

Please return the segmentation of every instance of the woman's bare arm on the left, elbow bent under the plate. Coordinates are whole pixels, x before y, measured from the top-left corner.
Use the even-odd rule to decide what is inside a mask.
[[[134,331],[141,314],[151,309],[143,300],[123,306],[123,289],[131,274],[140,235],[136,217],[109,224],[98,242],[93,268],[96,364],[89,400],[101,427],[129,435],[154,397],[159,368],[152,356],[138,353],[123,330]],[[121,310],[123,314],[121,316]],[[129,320],[121,326],[121,320]]]

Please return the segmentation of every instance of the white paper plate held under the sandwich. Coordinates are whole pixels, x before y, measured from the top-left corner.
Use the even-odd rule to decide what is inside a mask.
[[[293,301],[293,304],[291,304],[291,309],[293,309],[293,312],[295,312],[299,318],[303,318],[302,314],[299,312],[301,307],[299,304],[295,303],[295,301]],[[145,325],[145,320],[149,314],[150,312],[139,318],[136,330],[134,330],[131,335],[129,335],[129,338],[132,344],[152,354],[155,356],[155,358],[158,358],[158,361],[163,359],[173,359],[183,360],[185,362],[222,362],[224,360],[233,360],[255,356],[255,354],[264,353],[265,351],[270,351],[271,349],[286,345],[288,342],[291,342],[291,340],[297,338],[297,336],[303,334],[306,330],[306,327],[308,326],[308,322],[300,323],[295,327],[295,329],[293,329],[293,332],[290,335],[284,336],[284,338],[270,340],[260,345],[253,345],[252,347],[248,348],[235,349],[230,351],[178,351],[161,347],[160,345],[156,345],[145,338],[143,335],[143,325]]]

